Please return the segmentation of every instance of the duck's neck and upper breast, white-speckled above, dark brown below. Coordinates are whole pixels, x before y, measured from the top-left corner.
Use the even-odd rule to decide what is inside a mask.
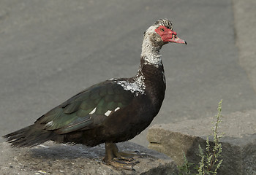
[[[159,112],[165,98],[165,71],[159,53],[160,48],[148,44],[148,41],[144,39],[140,69],[134,77],[135,82],[143,88],[144,94],[150,98],[154,115]]]

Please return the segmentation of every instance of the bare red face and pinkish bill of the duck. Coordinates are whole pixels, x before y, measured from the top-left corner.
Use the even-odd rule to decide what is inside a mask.
[[[187,44],[183,39],[178,38],[177,33],[175,31],[170,30],[165,26],[159,26],[155,29],[157,34],[161,36],[163,42],[176,42],[181,44]]]

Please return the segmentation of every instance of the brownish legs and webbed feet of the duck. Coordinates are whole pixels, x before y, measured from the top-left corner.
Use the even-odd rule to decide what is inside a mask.
[[[132,157],[138,156],[136,153],[118,152],[118,147],[112,142],[105,143],[105,158],[103,161],[115,168],[122,168],[127,170],[134,170],[132,166],[138,161],[135,161]]]

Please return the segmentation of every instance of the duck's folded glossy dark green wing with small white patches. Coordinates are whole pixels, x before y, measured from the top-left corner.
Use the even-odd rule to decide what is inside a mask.
[[[101,82],[69,98],[36,123],[47,130],[69,133],[100,125],[110,114],[131,103],[134,93],[111,81]]]

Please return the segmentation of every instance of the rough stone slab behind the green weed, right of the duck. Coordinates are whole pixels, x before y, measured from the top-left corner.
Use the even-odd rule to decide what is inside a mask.
[[[215,118],[208,117],[154,125],[148,130],[148,147],[169,155],[178,165],[184,162],[183,152],[190,162],[198,163],[198,145],[205,149],[207,136],[213,143],[212,121]],[[218,131],[225,133],[220,174],[256,174],[256,110],[225,115]]]

